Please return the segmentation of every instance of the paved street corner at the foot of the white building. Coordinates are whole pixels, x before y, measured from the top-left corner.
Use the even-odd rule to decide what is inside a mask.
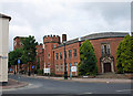
[[[20,87],[25,87],[29,84],[25,82],[19,82],[12,78],[9,78],[8,84],[6,86],[1,86],[3,90],[7,89],[12,89],[12,88],[20,88]]]

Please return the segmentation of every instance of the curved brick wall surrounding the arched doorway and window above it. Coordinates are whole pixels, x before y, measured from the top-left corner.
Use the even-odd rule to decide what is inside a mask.
[[[94,51],[95,51],[95,56],[98,58],[98,67],[99,67],[99,73],[101,73],[101,63],[100,58],[102,56],[102,51],[101,51],[101,43],[110,43],[111,46],[111,55],[114,57],[114,71],[116,72],[116,49],[120,44],[120,42],[124,38],[109,38],[109,39],[98,39],[98,40],[90,40],[92,43]]]

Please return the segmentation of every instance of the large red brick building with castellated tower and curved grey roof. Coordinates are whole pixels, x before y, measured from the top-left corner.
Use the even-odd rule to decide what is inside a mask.
[[[127,33],[106,32],[94,33],[80,39],[66,41],[66,34],[62,34],[62,42],[59,35],[44,35],[43,44],[37,45],[37,58],[40,60],[40,68],[50,68],[55,75],[64,74],[64,44],[66,51],[68,75],[70,75],[70,65],[78,68],[80,62],[80,45],[90,40],[94,47],[98,58],[99,73],[116,72],[116,49],[120,42]],[[16,40],[16,39],[14,39]],[[18,40],[19,41],[19,40]],[[19,45],[18,45],[19,46]],[[43,47],[44,46],[44,47]],[[17,47],[17,46],[14,46]],[[78,75],[78,70],[72,72],[73,76]]]

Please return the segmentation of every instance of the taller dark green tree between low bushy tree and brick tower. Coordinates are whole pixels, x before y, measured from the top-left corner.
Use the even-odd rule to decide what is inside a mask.
[[[38,42],[35,42],[34,36],[29,35],[29,38],[22,39],[21,42],[23,44],[22,60],[25,64],[28,64],[29,62],[34,63],[37,55],[35,46],[38,45]]]

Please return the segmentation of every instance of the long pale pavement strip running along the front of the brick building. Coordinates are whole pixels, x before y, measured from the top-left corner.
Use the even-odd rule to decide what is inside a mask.
[[[29,77],[27,75],[21,75],[24,77]],[[78,78],[78,77],[68,77],[68,79],[64,79],[64,77],[53,77],[53,76],[38,76],[38,75],[31,75],[30,77],[34,78],[45,78],[45,79],[55,79],[55,81],[70,81],[70,82],[83,82],[83,83],[133,83],[132,79],[127,78]]]

